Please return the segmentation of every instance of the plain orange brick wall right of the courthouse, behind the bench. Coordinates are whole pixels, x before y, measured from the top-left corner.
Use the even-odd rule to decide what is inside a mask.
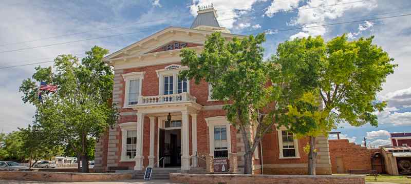
[[[337,167],[342,167],[343,173],[347,173],[349,169],[373,169],[371,166],[371,156],[379,152],[379,149],[367,149],[353,142],[348,142],[348,139],[328,141],[332,173],[338,173]],[[340,163],[337,163],[338,159],[342,160],[342,166],[340,161]]]

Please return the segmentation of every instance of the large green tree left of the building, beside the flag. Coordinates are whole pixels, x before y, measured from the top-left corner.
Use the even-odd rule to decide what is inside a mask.
[[[88,150],[94,138],[114,125],[118,113],[111,96],[114,74],[102,58],[108,50],[93,47],[79,62],[72,55],[54,59],[54,67],[36,67],[32,79],[23,81],[23,101],[38,108],[39,124],[58,134],[59,144],[69,145],[88,172]],[[44,92],[43,103],[36,100],[36,81],[58,86],[57,92]],[[93,138],[92,138],[93,137]]]

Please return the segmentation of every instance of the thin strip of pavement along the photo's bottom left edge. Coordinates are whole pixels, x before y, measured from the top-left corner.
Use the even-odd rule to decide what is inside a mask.
[[[151,180],[145,181],[142,179],[132,179],[132,180],[124,180],[124,181],[95,181],[95,182],[50,182],[50,181],[17,181],[17,180],[2,180],[0,179],[0,183],[3,184],[40,184],[40,183],[61,183],[61,184],[84,184],[84,183],[92,183],[92,184],[154,184],[154,183],[165,183],[165,184],[173,184],[170,180]]]

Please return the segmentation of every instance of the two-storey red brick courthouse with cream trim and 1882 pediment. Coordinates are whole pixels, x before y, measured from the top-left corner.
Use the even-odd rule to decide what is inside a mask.
[[[178,78],[187,69],[180,65],[181,48],[200,53],[214,31],[227,40],[242,37],[220,27],[216,16],[212,6],[200,8],[190,28],[163,29],[104,58],[115,70],[113,101],[120,117],[96,145],[96,171],[164,166],[217,172],[217,161],[223,165],[219,171],[242,171],[244,143],[228,122],[223,101],[211,99],[205,81],[196,85]],[[254,173],[307,173],[307,141],[284,128],[267,134],[255,151]],[[331,174],[325,137],[317,138],[317,150],[317,173]]]

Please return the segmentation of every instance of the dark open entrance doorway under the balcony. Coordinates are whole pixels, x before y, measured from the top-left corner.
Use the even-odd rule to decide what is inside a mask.
[[[164,157],[159,162],[159,166],[165,167],[181,167],[181,130],[165,130],[159,131],[159,156]]]

